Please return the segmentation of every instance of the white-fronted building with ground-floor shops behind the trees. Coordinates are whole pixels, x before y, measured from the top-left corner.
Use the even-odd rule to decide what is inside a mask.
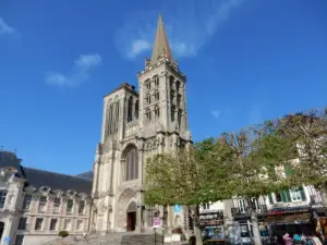
[[[233,198],[201,207],[204,237],[223,237],[229,225],[239,225],[243,243],[253,236],[250,205],[256,212],[262,237],[315,232],[313,220],[324,220],[323,193],[313,186],[300,186],[253,199]],[[316,221],[314,221],[316,222]]]

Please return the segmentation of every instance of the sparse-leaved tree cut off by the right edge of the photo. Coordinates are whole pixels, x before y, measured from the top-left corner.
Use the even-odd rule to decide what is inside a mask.
[[[296,145],[298,156],[289,163],[293,174],[286,181],[314,185],[327,192],[327,109],[288,114],[279,121],[279,132]],[[289,158],[290,160],[290,158]]]

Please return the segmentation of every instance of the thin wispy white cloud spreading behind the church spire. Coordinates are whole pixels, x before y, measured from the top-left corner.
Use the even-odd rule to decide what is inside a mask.
[[[194,57],[227,22],[244,0],[172,1],[173,8],[162,11],[166,32],[177,57]],[[135,58],[149,51],[155,39],[157,11],[129,13],[116,35],[117,48],[123,56]]]

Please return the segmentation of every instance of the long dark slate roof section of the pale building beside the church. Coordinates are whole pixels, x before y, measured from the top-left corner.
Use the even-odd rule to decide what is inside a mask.
[[[61,189],[66,192],[73,189],[77,193],[86,193],[87,195],[92,193],[93,181],[90,179],[26,168],[23,166],[21,166],[21,174],[27,180],[28,185],[36,188],[49,186],[52,191]]]

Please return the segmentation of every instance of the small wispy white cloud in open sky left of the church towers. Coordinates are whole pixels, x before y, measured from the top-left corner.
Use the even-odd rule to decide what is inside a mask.
[[[101,63],[101,57],[95,54],[81,54],[74,62],[71,73],[64,75],[58,72],[51,72],[46,75],[46,83],[57,86],[76,87],[89,78],[89,72],[93,68]]]

